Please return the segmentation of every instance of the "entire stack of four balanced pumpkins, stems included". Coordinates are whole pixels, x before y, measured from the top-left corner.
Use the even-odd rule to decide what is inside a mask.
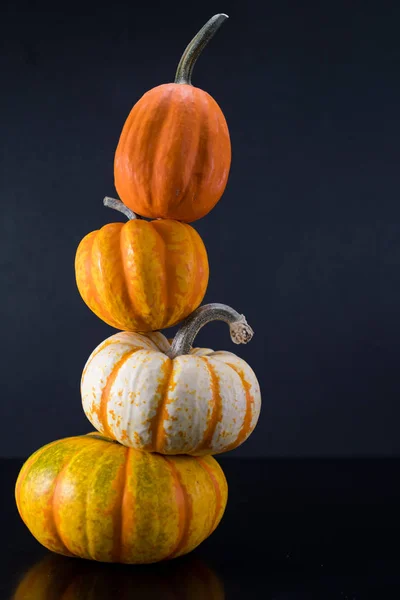
[[[226,506],[226,480],[211,455],[244,442],[259,416],[252,369],[231,352],[193,348],[216,319],[235,343],[252,336],[229,306],[200,306],[207,252],[188,225],[218,202],[230,168],[221,109],[190,83],[225,18],[195,36],[175,83],[133,107],[114,163],[123,202],[105,199],[129,220],[88,234],[77,250],[83,300],[122,332],[92,352],[82,374],[83,408],[97,432],[48,444],[18,477],[22,519],[60,554],[149,563],[190,552]],[[180,322],[173,340],[160,332]]]

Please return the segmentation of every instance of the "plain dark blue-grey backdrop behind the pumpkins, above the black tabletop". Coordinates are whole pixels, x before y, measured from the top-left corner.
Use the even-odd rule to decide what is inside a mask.
[[[224,111],[233,160],[195,227],[205,301],[256,334],[237,348],[216,323],[198,344],[237,352],[263,394],[230,456],[400,453],[400,4],[3,1],[1,455],[91,430],[80,376],[115,330],[81,300],[75,251],[123,220],[102,198],[131,107],[218,11],[193,83]]]

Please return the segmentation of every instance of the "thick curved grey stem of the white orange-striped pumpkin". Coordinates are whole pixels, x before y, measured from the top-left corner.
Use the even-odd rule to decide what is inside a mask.
[[[169,357],[175,358],[182,354],[189,354],[194,338],[200,329],[210,321],[227,323],[234,344],[247,344],[253,337],[254,332],[244,315],[240,315],[226,304],[204,304],[192,312],[182,323],[171,344]]]

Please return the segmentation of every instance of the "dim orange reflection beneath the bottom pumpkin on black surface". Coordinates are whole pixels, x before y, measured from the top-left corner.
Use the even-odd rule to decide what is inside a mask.
[[[155,565],[109,565],[48,555],[19,583],[13,600],[224,600],[220,578],[187,557]]]

